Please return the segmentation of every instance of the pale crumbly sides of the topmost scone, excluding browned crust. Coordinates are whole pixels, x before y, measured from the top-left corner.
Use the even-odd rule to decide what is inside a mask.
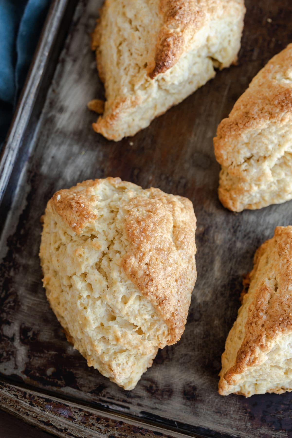
[[[106,132],[106,136],[111,131],[114,139],[134,135],[148,126],[151,119],[213,78],[215,68],[228,67],[236,60],[240,38],[236,37],[235,42],[234,35],[242,28],[242,1],[232,1],[238,14],[234,12],[229,17],[224,14],[227,6],[220,6],[219,12],[215,6],[205,12],[198,5],[198,11],[195,13],[190,7],[188,15],[188,6],[183,4],[184,24],[192,21],[194,29],[184,34],[182,29],[185,52],[171,68],[151,78],[149,71],[153,68],[163,20],[159,7],[160,2],[156,0],[130,2],[130,5],[121,0],[108,2],[106,12],[102,13],[102,31],[96,46],[106,103],[104,114],[94,127],[102,134]],[[214,19],[207,17],[209,14],[214,14]],[[167,32],[170,28],[171,24]],[[117,120],[121,120],[120,134],[114,132]]]

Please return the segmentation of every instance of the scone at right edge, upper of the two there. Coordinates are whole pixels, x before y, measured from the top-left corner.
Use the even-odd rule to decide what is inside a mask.
[[[292,199],[292,44],[253,78],[214,146],[225,207],[240,212]]]

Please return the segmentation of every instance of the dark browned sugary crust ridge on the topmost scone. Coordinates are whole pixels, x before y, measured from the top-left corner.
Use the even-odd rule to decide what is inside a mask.
[[[204,12],[193,0],[160,0],[159,11],[163,25],[158,34],[155,66],[148,72],[151,79],[173,67],[183,53],[184,33],[194,34],[201,27]]]

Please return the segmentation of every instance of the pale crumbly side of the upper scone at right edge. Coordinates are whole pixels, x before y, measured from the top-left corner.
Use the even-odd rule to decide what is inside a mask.
[[[219,198],[231,199],[236,211],[280,204],[292,199],[292,123],[277,127],[270,124],[260,133],[246,136],[238,145],[240,161],[222,167]],[[236,175],[239,175],[236,176]],[[244,196],[240,203],[238,194]]]

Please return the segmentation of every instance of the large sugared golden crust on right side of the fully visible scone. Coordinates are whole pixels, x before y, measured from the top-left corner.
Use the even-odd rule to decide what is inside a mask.
[[[150,193],[149,198],[137,197],[129,203],[125,230],[132,245],[122,266],[143,295],[157,306],[169,326],[172,344],[183,333],[196,280],[196,219],[188,199],[179,198],[179,206],[176,199],[159,189],[151,188]],[[179,215],[184,217],[183,223]],[[169,239],[171,227],[173,241]],[[188,257],[187,266],[177,263],[177,251]]]

